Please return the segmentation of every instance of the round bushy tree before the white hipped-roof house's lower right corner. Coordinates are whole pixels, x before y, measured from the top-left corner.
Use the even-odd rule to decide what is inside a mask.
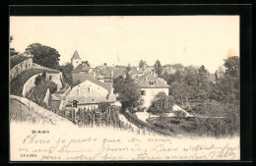
[[[174,100],[172,97],[167,96],[164,92],[159,92],[148,109],[148,112],[153,114],[162,114],[172,111]]]

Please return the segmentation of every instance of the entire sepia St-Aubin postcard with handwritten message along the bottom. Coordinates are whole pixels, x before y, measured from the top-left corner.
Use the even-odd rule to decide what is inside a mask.
[[[239,24],[10,16],[10,160],[240,160]]]

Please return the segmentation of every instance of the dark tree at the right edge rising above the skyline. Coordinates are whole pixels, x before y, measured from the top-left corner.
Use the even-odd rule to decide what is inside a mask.
[[[232,56],[227,59],[224,59],[224,67],[225,69],[225,75],[229,75],[232,77],[239,77],[240,75],[240,65],[239,65],[239,57]]]

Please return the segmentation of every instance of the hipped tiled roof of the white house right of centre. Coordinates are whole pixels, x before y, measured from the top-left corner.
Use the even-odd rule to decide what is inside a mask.
[[[150,84],[153,82],[153,84]],[[139,87],[150,87],[150,88],[168,88],[169,85],[161,78],[154,77],[151,74],[143,75],[138,80]]]

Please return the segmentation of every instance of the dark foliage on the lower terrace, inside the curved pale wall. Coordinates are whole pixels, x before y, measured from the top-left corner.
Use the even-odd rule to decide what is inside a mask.
[[[32,87],[31,92],[28,94],[28,98],[33,102],[41,105],[48,88],[50,93],[54,93],[57,90],[57,84],[49,81],[39,83]]]

